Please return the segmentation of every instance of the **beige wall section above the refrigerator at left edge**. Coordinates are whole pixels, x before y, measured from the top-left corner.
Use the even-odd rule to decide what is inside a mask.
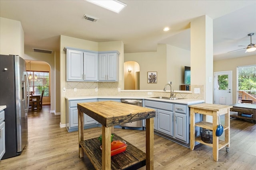
[[[20,21],[0,17],[0,54],[24,59],[24,31]]]

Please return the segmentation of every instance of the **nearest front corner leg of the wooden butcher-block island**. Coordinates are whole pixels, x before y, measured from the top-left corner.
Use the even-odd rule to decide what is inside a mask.
[[[111,169],[111,131],[112,127],[102,126],[102,170]]]

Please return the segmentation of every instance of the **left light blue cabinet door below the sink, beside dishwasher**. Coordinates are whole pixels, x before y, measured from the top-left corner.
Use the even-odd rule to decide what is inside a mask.
[[[173,112],[157,109],[157,130],[166,135],[173,136]]]

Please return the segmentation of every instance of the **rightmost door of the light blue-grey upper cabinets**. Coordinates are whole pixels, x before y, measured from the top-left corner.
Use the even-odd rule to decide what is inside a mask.
[[[107,80],[116,80],[116,53],[107,55]]]

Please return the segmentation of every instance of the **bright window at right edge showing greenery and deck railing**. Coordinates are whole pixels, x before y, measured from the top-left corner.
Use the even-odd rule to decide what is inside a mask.
[[[238,103],[252,100],[256,104],[256,65],[237,67]]]

